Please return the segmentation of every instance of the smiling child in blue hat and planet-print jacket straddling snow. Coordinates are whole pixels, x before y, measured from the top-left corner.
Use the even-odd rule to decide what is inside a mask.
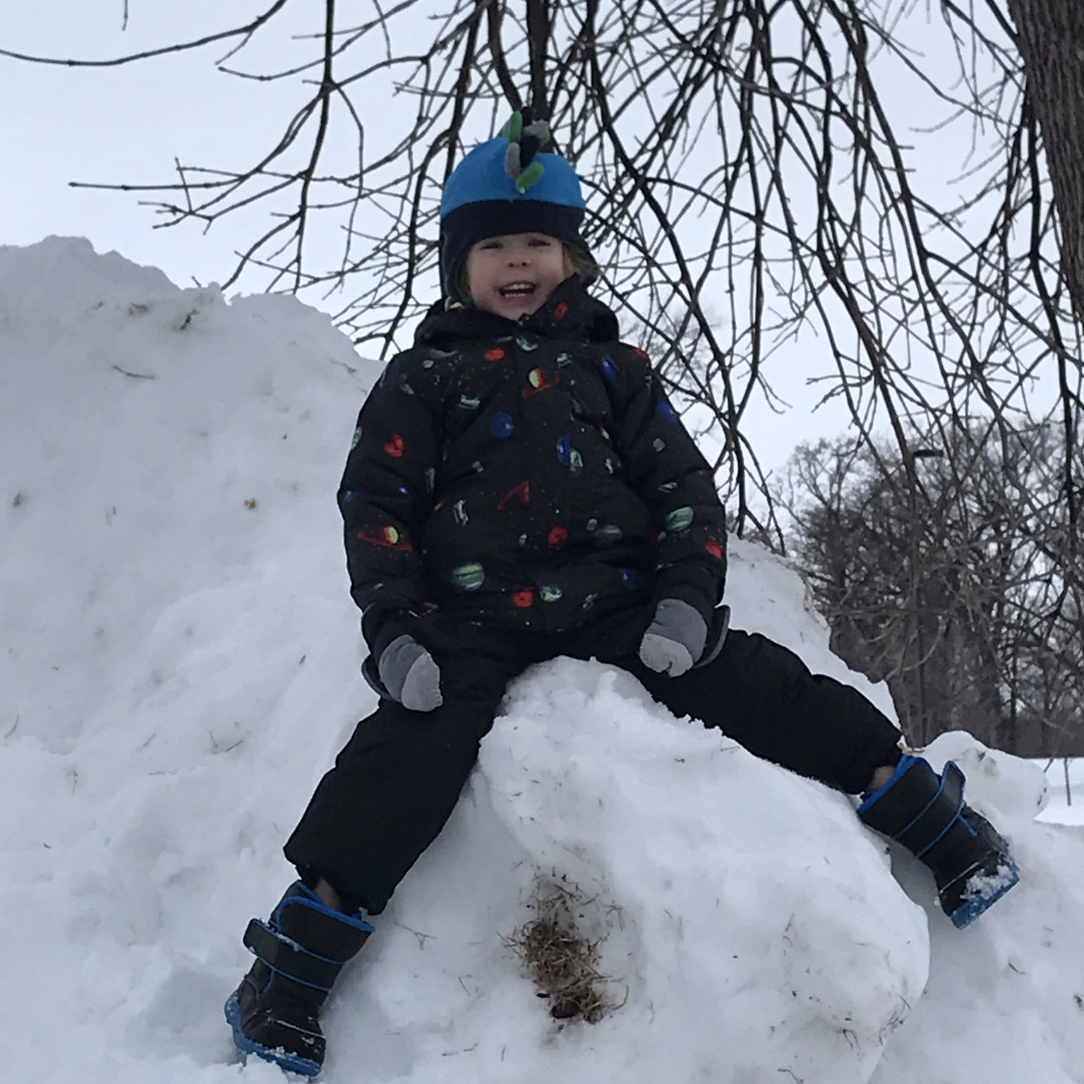
[[[526,112],[526,111],[525,111]],[[245,944],[227,1003],[245,1051],[314,1075],[318,1014],[440,831],[507,683],[558,655],[633,673],[676,715],[849,793],[932,870],[964,926],[1018,879],[963,775],[902,754],[864,697],[727,631],[711,477],[642,351],[584,289],[572,168],[513,118],[448,180],[446,300],[361,410],[338,493],[376,711],[286,843],[300,879]]]

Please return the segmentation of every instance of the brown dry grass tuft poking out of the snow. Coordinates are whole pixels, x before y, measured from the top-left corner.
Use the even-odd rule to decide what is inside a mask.
[[[598,971],[602,940],[589,940],[576,926],[573,913],[593,901],[575,885],[551,880],[537,886],[530,902],[537,917],[504,943],[527,965],[539,997],[550,1002],[550,1016],[597,1023],[618,1006],[606,996],[607,980]]]

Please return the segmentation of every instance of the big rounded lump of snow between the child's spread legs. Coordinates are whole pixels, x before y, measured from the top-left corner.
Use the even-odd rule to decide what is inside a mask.
[[[615,1049],[645,1080],[718,1079],[724,1050],[736,1081],[868,1079],[928,939],[844,798],[568,659],[517,683],[481,769],[532,863],[598,901],[627,989],[545,1079],[598,1080]]]

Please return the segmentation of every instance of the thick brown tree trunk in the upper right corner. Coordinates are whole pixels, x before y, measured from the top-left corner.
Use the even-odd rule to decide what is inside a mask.
[[[1061,271],[1084,324],[1084,2],[1007,0],[1061,227]]]

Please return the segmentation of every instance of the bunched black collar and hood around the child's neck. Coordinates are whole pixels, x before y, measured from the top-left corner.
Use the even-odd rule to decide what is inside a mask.
[[[463,339],[491,339],[533,332],[544,338],[611,343],[619,336],[617,317],[583,288],[579,275],[566,279],[534,312],[508,320],[470,306],[446,309],[438,301],[418,325],[416,346],[441,347]]]

